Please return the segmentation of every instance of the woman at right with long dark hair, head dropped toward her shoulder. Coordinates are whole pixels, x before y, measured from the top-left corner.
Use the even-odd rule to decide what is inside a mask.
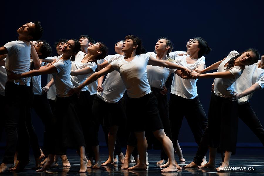
[[[195,69],[198,74],[194,78],[215,78],[214,92],[212,92],[208,112],[209,130],[209,162],[199,168],[215,168],[216,148],[225,151],[224,162],[220,167],[229,167],[231,154],[236,152],[236,139],[238,128],[237,102],[229,100],[235,94],[234,82],[243,72],[245,65],[258,61],[259,54],[255,49],[248,49],[242,54],[231,51],[223,60],[212,64],[206,69]],[[217,72],[206,73],[217,69]],[[201,75],[199,75],[201,74]],[[219,140],[220,139],[220,140]],[[216,170],[220,170],[220,167]]]

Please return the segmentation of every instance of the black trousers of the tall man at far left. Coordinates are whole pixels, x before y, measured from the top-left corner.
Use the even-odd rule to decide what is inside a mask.
[[[29,160],[29,135],[26,127],[26,115],[30,111],[30,90],[27,86],[19,86],[11,82],[6,83],[6,150],[3,163],[13,164],[16,147],[18,145],[18,160]]]

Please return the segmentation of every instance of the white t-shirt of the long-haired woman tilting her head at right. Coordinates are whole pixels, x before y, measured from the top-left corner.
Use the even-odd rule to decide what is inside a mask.
[[[224,65],[226,64],[226,62],[228,62],[232,57],[235,57],[236,55],[238,55],[237,51],[231,51],[226,57],[226,59],[223,62],[221,62],[221,64],[217,69],[217,72],[226,72],[225,70],[226,67]],[[244,67],[234,66],[232,69],[228,70],[234,75],[234,78],[231,79],[215,78],[214,93],[219,97],[225,97],[225,98],[229,98],[233,94],[235,94],[236,89],[234,84],[236,79],[238,79],[242,74],[243,70]]]

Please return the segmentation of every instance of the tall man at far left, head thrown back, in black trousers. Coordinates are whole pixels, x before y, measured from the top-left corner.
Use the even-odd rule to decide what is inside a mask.
[[[0,55],[6,56],[6,70],[7,74],[23,73],[29,71],[30,65],[30,43],[31,40],[38,40],[42,36],[42,26],[39,21],[24,24],[19,29],[18,41],[11,41],[0,48]],[[39,61],[34,62],[35,68],[40,66]],[[26,129],[25,117],[29,112],[29,87],[26,85],[27,78],[20,80],[7,79],[5,87],[6,104],[5,110],[7,113],[5,117],[6,129],[6,150],[3,162],[0,166],[0,173],[5,172],[14,164],[14,155],[16,145],[18,143],[18,159],[20,160],[21,171],[28,164],[29,161],[29,137]]]

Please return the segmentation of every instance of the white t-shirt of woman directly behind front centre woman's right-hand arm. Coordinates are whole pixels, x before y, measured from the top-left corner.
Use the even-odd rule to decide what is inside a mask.
[[[146,53],[155,59],[157,58],[157,54],[153,52]],[[172,62],[177,64],[176,62]],[[167,81],[170,74],[176,72],[175,69],[169,69],[166,67],[158,67],[153,65],[147,65],[147,75],[148,75],[148,83],[150,87],[155,87],[158,89],[163,89],[165,82]]]

